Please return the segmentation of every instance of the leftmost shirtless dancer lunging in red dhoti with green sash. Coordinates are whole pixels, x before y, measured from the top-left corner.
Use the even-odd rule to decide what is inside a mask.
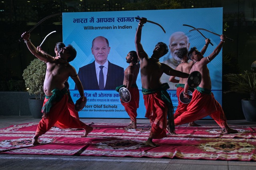
[[[21,37],[24,38],[30,52],[46,63],[46,76],[44,80],[44,94],[46,98],[42,108],[44,115],[38,124],[32,144],[39,145],[38,137],[49,131],[56,121],[69,128],[84,129],[84,135],[81,137],[86,137],[93,128],[70,115],[67,105],[68,92],[64,85],[64,82],[70,76],[78,87],[81,98],[84,100],[84,89],[77,76],[76,69],[68,63],[76,57],[76,50],[72,45],[68,45],[60,50],[59,59],[54,59],[54,57],[42,54],[36,49],[29,39],[30,33],[24,32]]]

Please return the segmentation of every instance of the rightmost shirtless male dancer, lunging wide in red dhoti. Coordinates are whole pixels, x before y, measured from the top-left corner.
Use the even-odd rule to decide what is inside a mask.
[[[202,80],[196,90],[193,92],[192,100],[187,107],[187,111],[183,112],[180,116],[174,119],[175,125],[182,125],[191,121],[202,119],[207,115],[210,115],[212,119],[218,123],[218,125],[224,130],[224,133],[237,133],[237,130],[228,127],[227,119],[220,104],[215,100],[212,91],[212,83],[210,78],[210,72],[207,67],[221,51],[223,44],[225,43],[226,35],[220,36],[220,43],[214,49],[214,51],[208,56],[204,57],[196,47],[193,47],[188,52],[188,57],[194,61],[190,73],[193,71],[199,71],[202,74]],[[187,95],[188,84],[184,87],[184,97]]]

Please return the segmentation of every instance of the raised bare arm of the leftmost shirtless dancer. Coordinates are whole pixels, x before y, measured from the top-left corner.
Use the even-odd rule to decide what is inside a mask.
[[[23,37],[29,51],[34,55],[36,56],[38,59],[40,59],[41,61],[44,61],[44,62],[48,62],[48,61],[53,61],[54,60],[54,57],[48,55],[48,54],[44,54],[44,53],[41,53],[39,52],[36,47],[31,43],[30,41],[30,33],[28,32],[24,32],[21,37]]]

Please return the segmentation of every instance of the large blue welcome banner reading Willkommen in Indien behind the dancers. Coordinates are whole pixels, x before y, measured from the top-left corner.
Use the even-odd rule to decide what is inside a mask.
[[[123,74],[129,65],[126,63],[126,55],[129,51],[135,49],[135,33],[139,21],[134,17],[145,17],[162,25],[166,33],[156,24],[147,22],[142,28],[141,43],[144,50],[150,57],[152,51],[158,42],[164,42],[169,47],[169,52],[164,55],[160,62],[166,63],[172,68],[179,64],[175,57],[175,47],[183,45],[190,49],[197,47],[200,51],[205,39],[198,31],[190,31],[192,27],[183,24],[192,25],[196,28],[204,28],[218,34],[222,34],[222,8],[198,8],[198,9],[180,9],[180,10],[143,10],[143,11],[117,11],[117,12],[72,12],[62,14],[63,42],[65,45],[71,44],[77,51],[74,61],[70,62],[79,73],[83,81],[84,94],[87,97],[87,104],[79,117],[90,118],[129,118],[120,103],[120,96],[114,90],[114,87],[122,85]],[[211,40],[204,57],[208,56],[220,42],[220,37],[201,31]],[[170,42],[170,37],[175,35],[186,36],[185,42],[179,42],[178,45]],[[96,77],[96,60],[92,51],[92,41],[95,37],[102,36],[108,39],[109,50],[107,54],[108,70],[106,74],[106,86],[108,89],[99,90]],[[208,64],[210,76],[212,79],[212,92],[220,104],[222,104],[222,52]],[[178,105],[176,96],[176,84],[169,82],[169,76],[163,74],[161,82],[168,82],[170,89],[168,93],[172,99],[174,109]],[[69,78],[70,92],[74,102],[80,97],[74,81]],[[140,104],[137,110],[137,118],[144,118],[146,109],[144,106],[143,95],[141,93],[140,73],[137,79],[137,85],[140,90]],[[94,88],[95,87],[95,88]]]

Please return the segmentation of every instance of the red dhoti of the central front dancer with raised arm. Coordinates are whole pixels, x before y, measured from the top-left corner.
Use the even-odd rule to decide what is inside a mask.
[[[149,138],[162,139],[166,137],[167,106],[162,100],[161,92],[143,95],[146,115],[150,120],[151,131]]]

